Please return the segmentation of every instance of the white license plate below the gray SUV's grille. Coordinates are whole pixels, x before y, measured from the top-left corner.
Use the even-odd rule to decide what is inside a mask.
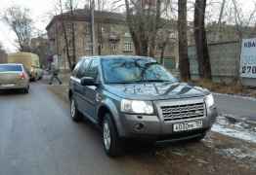
[[[173,124],[173,131],[181,132],[181,131],[187,131],[187,130],[197,129],[201,127],[202,127],[202,121],[175,123]]]

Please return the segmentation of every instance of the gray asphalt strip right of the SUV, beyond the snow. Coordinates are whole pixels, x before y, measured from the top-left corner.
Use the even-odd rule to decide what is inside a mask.
[[[221,114],[234,115],[256,122],[256,100],[222,94],[215,94],[214,97]]]

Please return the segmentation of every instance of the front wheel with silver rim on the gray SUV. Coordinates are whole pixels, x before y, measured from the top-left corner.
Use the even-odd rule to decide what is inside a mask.
[[[122,153],[121,140],[118,137],[117,129],[109,114],[105,115],[103,122],[103,144],[108,157],[118,157]]]

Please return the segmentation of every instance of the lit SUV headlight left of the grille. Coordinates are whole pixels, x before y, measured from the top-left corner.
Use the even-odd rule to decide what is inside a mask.
[[[153,114],[153,107],[150,101],[137,101],[123,99],[121,101],[121,112],[134,114]]]

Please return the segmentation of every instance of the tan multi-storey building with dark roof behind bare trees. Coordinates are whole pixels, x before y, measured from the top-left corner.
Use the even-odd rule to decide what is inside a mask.
[[[61,68],[67,69],[66,48],[64,42],[63,22],[66,30],[69,53],[73,52],[71,44],[71,24],[75,29],[75,55],[76,59],[84,55],[92,54],[91,44],[91,19],[89,9],[75,10],[74,16],[64,14],[55,16],[46,27],[50,53],[58,54]],[[96,54],[135,54],[133,41],[125,22],[125,16],[117,13],[95,11],[95,43]],[[160,41],[159,41],[160,42]],[[157,42],[156,42],[157,43]],[[69,51],[68,50],[68,51]],[[156,55],[159,57],[161,48],[156,46]],[[169,66],[175,66],[178,50],[173,44],[167,45],[164,57]]]

